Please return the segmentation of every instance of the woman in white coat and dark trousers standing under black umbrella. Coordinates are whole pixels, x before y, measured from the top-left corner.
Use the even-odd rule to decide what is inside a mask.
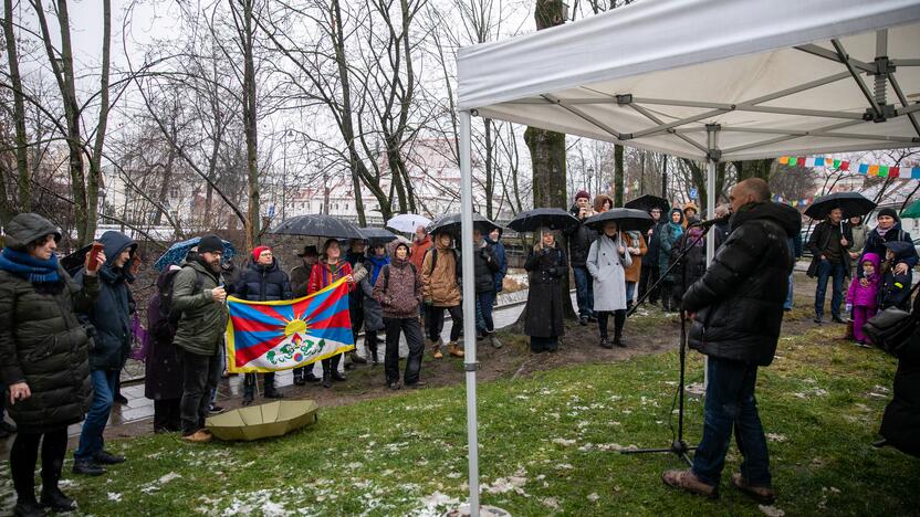
[[[594,278],[594,312],[600,328],[600,346],[625,347],[623,324],[626,321],[626,272],[632,257],[619,239],[616,221],[606,221],[604,231],[590,245],[587,268]],[[614,315],[614,342],[607,339],[607,318]]]

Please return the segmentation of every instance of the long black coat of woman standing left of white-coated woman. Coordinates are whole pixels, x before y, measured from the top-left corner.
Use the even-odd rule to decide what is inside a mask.
[[[568,261],[558,245],[552,250],[531,251],[524,268],[530,274],[524,334],[556,337],[565,334],[561,278],[568,276]]]

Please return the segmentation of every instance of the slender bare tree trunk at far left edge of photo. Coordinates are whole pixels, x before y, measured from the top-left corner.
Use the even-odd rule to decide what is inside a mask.
[[[13,122],[15,124],[15,169],[19,210],[32,211],[31,175],[29,173],[28,137],[25,135],[25,101],[22,94],[22,77],[19,74],[19,54],[13,33],[13,2],[3,0],[3,33],[7,39],[7,57],[10,63],[10,81],[13,86]],[[6,197],[6,184],[3,186]],[[6,218],[4,221],[6,222]]]

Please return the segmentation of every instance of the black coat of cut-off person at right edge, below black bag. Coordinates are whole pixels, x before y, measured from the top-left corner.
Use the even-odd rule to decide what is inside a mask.
[[[920,315],[920,296],[913,302],[913,314]],[[901,352],[893,391],[881,419],[881,435],[901,452],[920,457],[920,331]]]

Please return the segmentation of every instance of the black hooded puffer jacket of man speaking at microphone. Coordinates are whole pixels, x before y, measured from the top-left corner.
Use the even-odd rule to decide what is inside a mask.
[[[788,239],[801,214],[780,203],[743,207],[705,274],[683,295],[697,313],[690,347],[707,356],[767,366],[773,361],[788,276],[794,265]]]

